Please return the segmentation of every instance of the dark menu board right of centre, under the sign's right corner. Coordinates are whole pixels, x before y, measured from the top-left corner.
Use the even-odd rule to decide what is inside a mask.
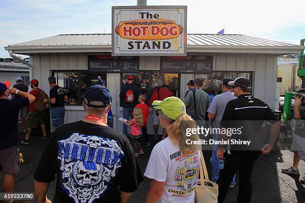
[[[213,56],[187,55],[161,57],[164,73],[212,73]]]

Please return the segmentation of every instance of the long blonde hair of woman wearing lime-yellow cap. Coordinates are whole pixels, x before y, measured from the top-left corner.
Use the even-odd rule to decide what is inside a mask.
[[[190,136],[186,136],[187,128],[197,128],[196,122],[187,114],[179,115],[176,120],[168,118],[162,111],[160,115],[170,123],[167,127],[167,134],[169,139],[180,146],[180,150],[183,154],[189,155],[195,153],[197,150],[201,150],[200,144],[186,144],[186,140],[199,141],[199,136],[197,133],[191,133]]]

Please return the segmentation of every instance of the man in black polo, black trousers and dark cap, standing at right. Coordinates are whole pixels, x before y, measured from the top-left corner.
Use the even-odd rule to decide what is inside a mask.
[[[218,203],[223,203],[232,178],[237,171],[239,172],[237,203],[250,203],[252,195],[251,176],[254,162],[261,153],[269,154],[271,152],[279,135],[280,123],[268,104],[250,94],[250,80],[237,78],[229,82],[229,85],[233,86],[234,95],[238,98],[227,103],[221,125],[226,129],[232,126],[243,126],[242,133],[235,137],[232,135],[231,140],[238,137],[240,140],[251,141],[251,144],[249,146],[246,144],[232,145],[231,142],[231,155],[226,153],[225,144],[218,145],[217,156],[220,159],[225,159],[224,169],[221,170],[218,179]],[[258,145],[261,141],[258,141],[258,138],[262,133],[260,130],[264,122],[271,125],[269,142],[265,146],[263,146],[264,144]],[[229,134],[220,134],[219,141],[227,140],[228,136]],[[259,150],[258,146],[262,147],[262,149]]]

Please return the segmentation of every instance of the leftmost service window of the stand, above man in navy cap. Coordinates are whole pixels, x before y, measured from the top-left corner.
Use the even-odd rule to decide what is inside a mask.
[[[82,105],[86,90],[93,85],[107,87],[106,73],[88,71],[53,71],[57,85],[62,87],[67,96],[67,105]]]

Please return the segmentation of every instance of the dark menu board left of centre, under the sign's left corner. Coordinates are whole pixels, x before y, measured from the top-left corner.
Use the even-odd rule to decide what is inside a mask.
[[[89,72],[139,72],[139,57],[137,56],[90,55],[88,57]]]

